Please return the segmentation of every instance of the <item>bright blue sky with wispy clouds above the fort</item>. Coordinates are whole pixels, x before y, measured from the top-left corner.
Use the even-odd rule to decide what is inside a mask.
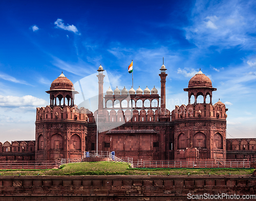
[[[0,141],[35,139],[35,108],[61,71],[75,83],[101,64],[113,90],[130,89],[133,59],[135,90],[160,93],[162,57],[169,110],[201,68],[229,108],[227,137],[255,138],[255,11],[234,0],[0,1]]]

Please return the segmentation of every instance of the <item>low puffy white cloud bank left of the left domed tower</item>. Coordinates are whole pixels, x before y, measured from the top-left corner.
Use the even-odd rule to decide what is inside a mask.
[[[31,107],[46,106],[48,102],[44,99],[36,98],[30,95],[17,97],[17,96],[2,96],[0,95],[0,106],[2,107],[20,107],[25,109],[25,107],[30,107],[27,109],[32,109]]]

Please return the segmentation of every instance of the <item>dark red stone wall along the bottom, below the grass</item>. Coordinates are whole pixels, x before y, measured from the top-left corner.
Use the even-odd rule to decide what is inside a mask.
[[[187,200],[188,193],[255,195],[256,177],[1,176],[0,187],[0,200]]]

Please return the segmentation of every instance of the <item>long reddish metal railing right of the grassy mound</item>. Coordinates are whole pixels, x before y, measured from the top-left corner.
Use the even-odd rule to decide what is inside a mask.
[[[225,161],[143,161],[133,164],[135,168],[250,168],[248,160],[225,160]]]

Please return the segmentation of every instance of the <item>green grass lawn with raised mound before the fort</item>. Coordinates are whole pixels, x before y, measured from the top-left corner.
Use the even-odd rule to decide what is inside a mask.
[[[60,166],[59,169],[47,170],[0,170],[4,175],[196,175],[196,174],[252,174],[253,168],[131,168],[128,163],[119,162],[83,162],[70,163]]]

